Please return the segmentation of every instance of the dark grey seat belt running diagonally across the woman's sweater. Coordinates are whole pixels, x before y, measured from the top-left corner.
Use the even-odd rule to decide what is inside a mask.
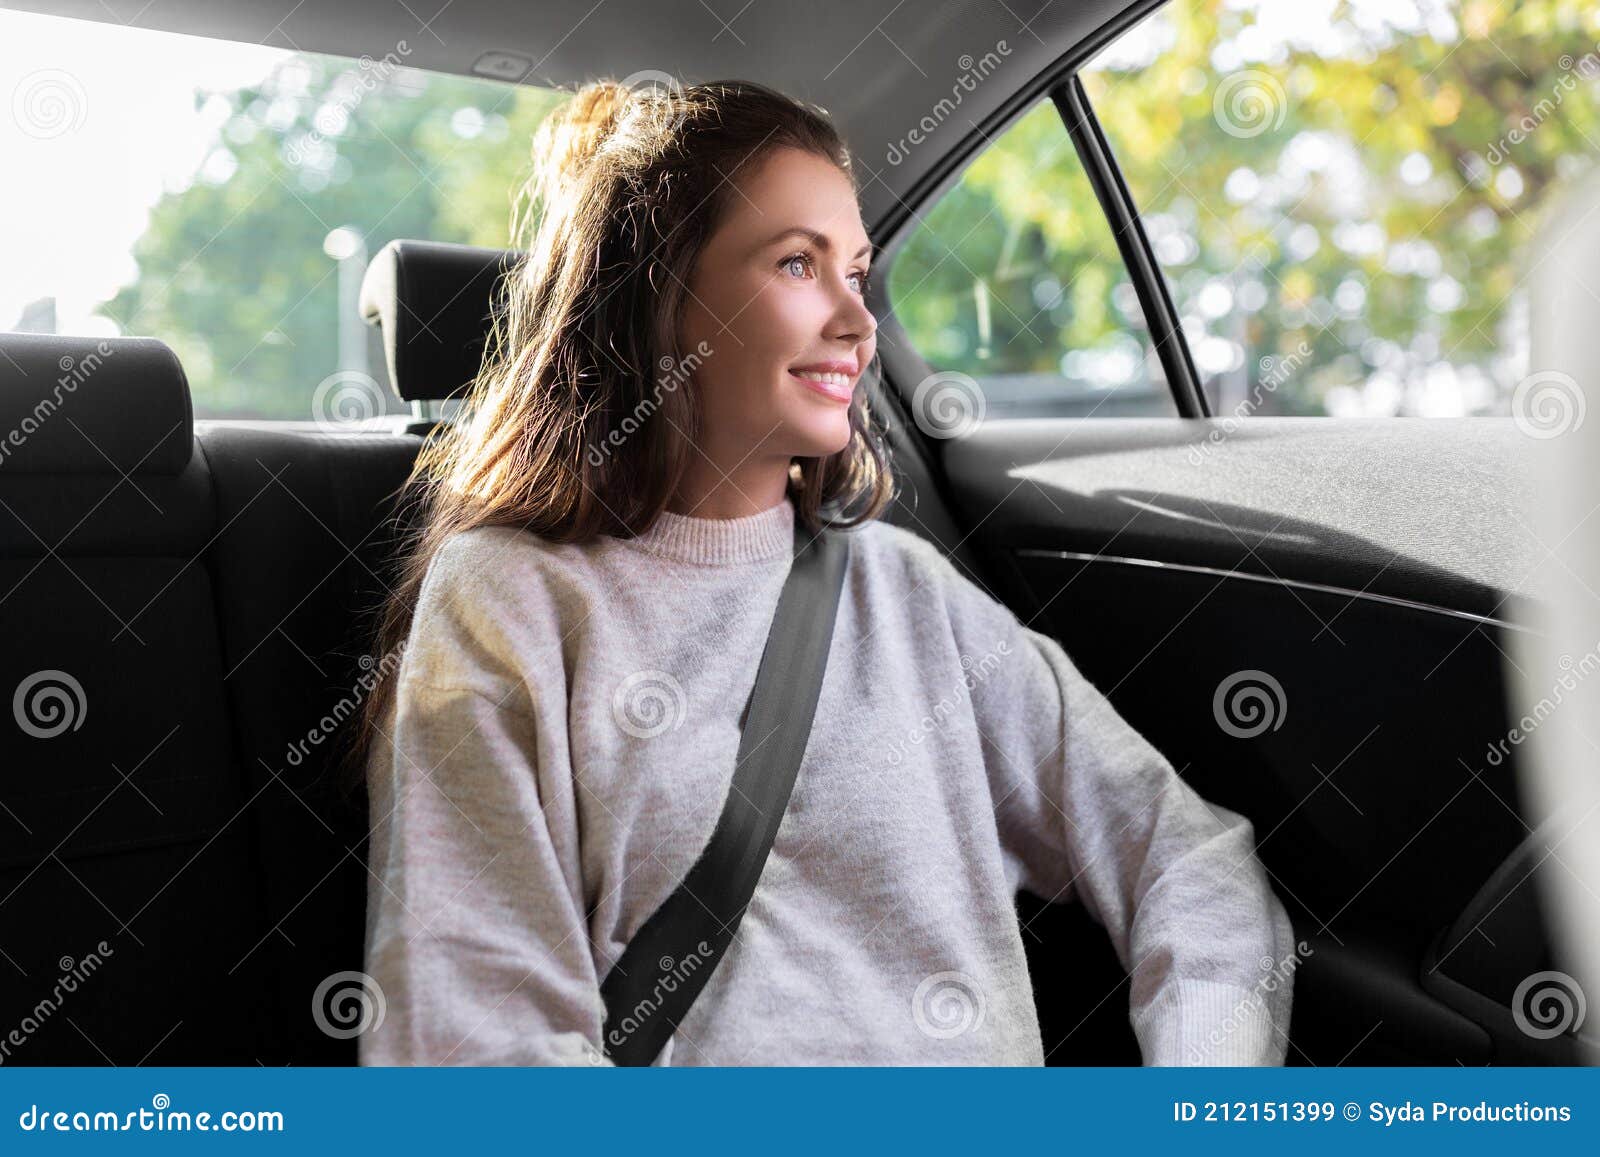
[[[846,531],[824,528],[813,538],[795,517],[794,562],[755,671],[717,829],[600,984],[602,1040],[614,1064],[654,1063],[744,919],[811,735],[848,562]]]

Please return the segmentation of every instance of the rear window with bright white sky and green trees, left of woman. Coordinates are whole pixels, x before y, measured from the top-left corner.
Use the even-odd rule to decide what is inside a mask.
[[[0,328],[152,334],[198,418],[400,410],[357,317],[398,237],[506,245],[549,90],[0,11]]]

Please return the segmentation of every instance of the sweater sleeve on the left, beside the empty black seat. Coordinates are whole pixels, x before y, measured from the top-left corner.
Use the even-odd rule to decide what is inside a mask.
[[[362,1064],[606,1063],[576,818],[557,786],[542,797],[538,712],[498,669],[504,615],[459,570],[419,597],[368,763],[366,971],[384,1008]]]

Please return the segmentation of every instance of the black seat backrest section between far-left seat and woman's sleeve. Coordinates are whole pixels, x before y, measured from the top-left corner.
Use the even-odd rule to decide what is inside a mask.
[[[334,733],[362,677],[384,669],[365,632],[392,584],[389,499],[421,438],[202,424],[198,445],[219,525],[222,690],[261,848],[258,954],[278,1010],[264,1048],[280,1063],[354,1064],[338,1002],[358,981],[331,978],[362,968],[366,807],[333,781]]]

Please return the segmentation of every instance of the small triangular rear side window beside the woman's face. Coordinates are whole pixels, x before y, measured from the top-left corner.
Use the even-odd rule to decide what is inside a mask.
[[[941,405],[963,424],[1178,413],[1110,226],[1048,99],[918,214],[893,256],[888,298],[933,370],[912,406],[936,430]]]

